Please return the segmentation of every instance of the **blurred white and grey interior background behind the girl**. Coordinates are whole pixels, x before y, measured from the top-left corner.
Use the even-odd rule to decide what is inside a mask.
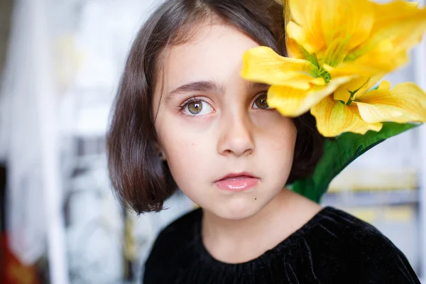
[[[158,231],[114,199],[104,136],[124,61],[157,0],[0,0],[0,283],[141,283]],[[424,4],[424,3],[423,3]],[[387,78],[426,89],[426,43]],[[426,127],[349,165],[322,204],[364,219],[426,283]]]

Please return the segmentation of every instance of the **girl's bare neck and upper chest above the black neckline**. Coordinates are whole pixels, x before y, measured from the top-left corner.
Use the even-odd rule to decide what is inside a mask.
[[[256,258],[279,244],[309,219],[296,212],[305,206],[302,203],[312,202],[307,203],[304,197],[295,192],[283,190],[261,211],[247,219],[222,219],[204,210],[204,246],[214,258],[227,263]]]

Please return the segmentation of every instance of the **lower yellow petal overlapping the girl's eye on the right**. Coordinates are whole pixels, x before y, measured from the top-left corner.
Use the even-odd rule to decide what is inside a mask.
[[[349,80],[351,77],[337,78],[325,86],[315,86],[309,90],[272,86],[268,90],[268,105],[280,111],[283,116],[300,116]]]

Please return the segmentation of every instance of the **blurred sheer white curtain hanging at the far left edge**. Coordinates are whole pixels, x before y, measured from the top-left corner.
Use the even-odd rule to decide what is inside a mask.
[[[40,115],[34,15],[29,1],[14,7],[2,98],[2,147],[9,165],[7,226],[11,249],[25,263],[45,252],[45,202],[40,194]]]

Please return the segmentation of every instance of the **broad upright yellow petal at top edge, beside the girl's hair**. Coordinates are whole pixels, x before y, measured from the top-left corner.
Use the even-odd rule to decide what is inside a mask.
[[[289,0],[292,20],[287,31],[309,53],[317,53],[339,39],[355,48],[368,38],[373,7],[366,0]],[[347,50],[345,50],[346,53]]]

